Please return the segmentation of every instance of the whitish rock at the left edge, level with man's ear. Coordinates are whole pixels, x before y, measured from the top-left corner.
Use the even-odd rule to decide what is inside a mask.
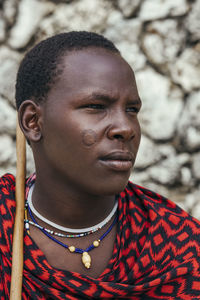
[[[16,111],[2,97],[0,97],[0,120],[0,133],[14,135],[16,131]]]

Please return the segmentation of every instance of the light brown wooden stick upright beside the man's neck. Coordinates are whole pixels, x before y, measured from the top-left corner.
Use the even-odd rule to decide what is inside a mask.
[[[23,279],[24,199],[26,170],[26,140],[17,122],[16,214],[13,233],[10,300],[21,300]]]

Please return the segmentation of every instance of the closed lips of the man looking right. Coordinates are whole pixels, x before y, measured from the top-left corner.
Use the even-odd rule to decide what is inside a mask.
[[[115,171],[130,171],[133,167],[134,157],[131,152],[115,151],[101,157],[100,162]]]

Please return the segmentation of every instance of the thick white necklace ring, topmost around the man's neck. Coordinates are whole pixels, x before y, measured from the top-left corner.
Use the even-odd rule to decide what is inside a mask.
[[[28,197],[27,197],[27,202],[28,205],[31,209],[31,211],[36,215],[36,217],[38,217],[38,219],[42,220],[43,222],[45,222],[46,224],[64,231],[64,232],[70,232],[70,233],[88,233],[88,232],[95,232],[99,229],[101,229],[103,226],[105,226],[114,216],[115,212],[117,211],[118,208],[118,201],[116,201],[112,211],[109,213],[109,215],[100,223],[98,223],[97,225],[91,226],[91,227],[87,227],[87,228],[80,228],[80,229],[73,229],[73,228],[67,228],[67,227],[63,227],[61,225],[58,225],[48,219],[46,219],[45,217],[43,217],[33,206],[33,202],[32,202],[32,193],[33,193],[33,189],[34,189],[34,184],[31,186],[29,193],[28,193]]]

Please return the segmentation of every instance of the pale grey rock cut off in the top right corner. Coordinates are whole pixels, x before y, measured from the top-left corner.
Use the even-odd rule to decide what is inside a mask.
[[[200,39],[200,0],[196,0],[192,9],[186,18],[186,28],[190,33],[189,38],[192,41]]]

